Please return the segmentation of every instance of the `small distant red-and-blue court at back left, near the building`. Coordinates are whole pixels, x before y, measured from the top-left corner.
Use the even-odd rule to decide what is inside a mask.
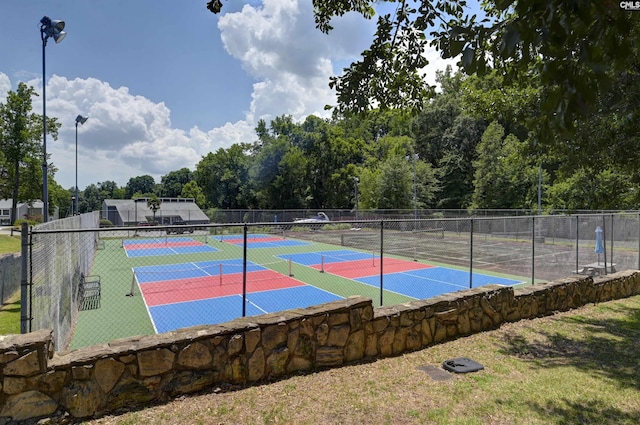
[[[129,239],[122,241],[122,247],[129,258],[218,251],[210,245],[189,237]]]

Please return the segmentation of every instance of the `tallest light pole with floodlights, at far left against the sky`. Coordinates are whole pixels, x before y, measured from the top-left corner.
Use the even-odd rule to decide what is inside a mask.
[[[40,38],[42,38],[42,220],[49,221],[49,176],[47,165],[47,96],[45,73],[45,47],[49,37],[53,37],[56,43],[60,43],[67,35],[64,29],[64,21],[51,20],[48,16],[40,19]]]

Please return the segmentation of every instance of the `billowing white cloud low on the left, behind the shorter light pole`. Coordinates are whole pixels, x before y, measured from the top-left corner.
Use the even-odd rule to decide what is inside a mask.
[[[40,107],[40,98],[35,98],[34,109]],[[89,117],[78,125],[80,188],[105,180],[125,185],[129,178],[145,174],[159,181],[170,171],[193,169],[200,160],[199,146],[184,131],[171,127],[164,103],[94,78],[67,80],[53,75],[47,83],[47,115],[57,117],[62,126],[57,142],[47,140],[47,150],[59,169],[56,181],[65,188],[75,184],[78,114]]]

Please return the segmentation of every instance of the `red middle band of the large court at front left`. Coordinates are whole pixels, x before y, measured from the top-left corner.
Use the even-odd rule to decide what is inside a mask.
[[[140,285],[149,307],[242,294],[242,273],[145,282]],[[247,273],[247,292],[293,288],[304,283],[275,272],[260,270]]]

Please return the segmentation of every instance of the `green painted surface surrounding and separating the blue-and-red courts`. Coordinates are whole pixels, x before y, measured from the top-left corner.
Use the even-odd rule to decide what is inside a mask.
[[[114,339],[144,336],[154,334],[154,327],[150,319],[149,310],[140,294],[134,279],[133,269],[142,266],[161,266],[203,262],[223,261],[243,257],[243,246],[220,241],[211,236],[194,235],[194,240],[214,247],[212,252],[193,252],[176,255],[158,255],[128,257],[123,246],[122,238],[101,239],[104,249],[96,254],[92,275],[100,276],[101,299],[100,306],[79,312],[79,317],[73,332],[69,348],[75,349],[90,345],[105,343]],[[134,239],[134,238],[129,238]],[[171,241],[171,237],[160,238]],[[295,239],[288,239],[293,240]],[[250,244],[248,245],[251,246]],[[287,254],[301,254],[344,249],[344,247],[310,242],[268,248],[247,249],[247,261],[262,265],[268,269],[290,276],[316,288],[328,291],[340,297],[364,296],[373,301],[374,306],[380,305],[380,288],[357,282],[352,279],[331,273],[322,273],[317,269],[295,262],[283,260]],[[350,248],[354,251],[366,252]],[[375,252],[368,253],[375,255]],[[279,257],[280,256],[280,257]],[[434,264],[434,263],[430,263]],[[460,269],[459,267],[454,267]],[[496,276],[505,276],[503,274]],[[513,276],[505,276],[514,278]],[[515,277],[515,279],[522,280]],[[384,305],[401,304],[413,300],[409,296],[390,291],[382,294]],[[238,317],[241,316],[241,301],[238,303]]]

